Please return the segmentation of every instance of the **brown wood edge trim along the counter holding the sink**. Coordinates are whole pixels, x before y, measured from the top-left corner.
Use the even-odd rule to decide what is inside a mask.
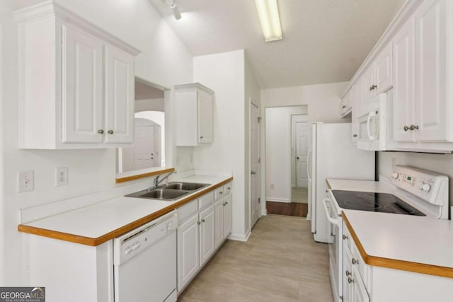
[[[127,223],[125,226],[122,226],[113,231],[105,233],[103,236],[100,236],[98,238],[90,238],[90,237],[74,235],[71,233],[53,231],[53,230],[49,230],[47,228],[37,228],[35,226],[27,226],[25,224],[19,224],[18,231],[21,231],[23,233],[30,233],[30,234],[38,235],[38,236],[44,236],[44,237],[48,237],[48,238],[69,241],[72,243],[80,243],[83,245],[97,246],[97,245],[101,245],[102,243],[105,243],[106,241],[108,241],[110,239],[116,238],[118,236],[121,236],[124,233],[132,231],[134,228],[142,226],[142,224],[144,224],[144,223],[148,223],[149,221],[151,221],[153,219],[156,219],[164,214],[167,214],[168,212],[173,211],[174,209],[182,206],[183,204],[186,204],[188,202],[193,201],[194,199],[197,199],[198,197],[200,197],[203,194],[214,191],[215,189],[217,189],[217,187],[222,187],[222,185],[226,185],[228,182],[231,182],[232,180],[233,180],[233,178],[231,177],[231,178],[228,178],[227,180],[217,183],[216,185],[206,187],[205,189],[200,190],[199,192],[196,192],[193,195],[190,195],[188,197],[185,197],[184,199],[181,199],[179,202],[170,204],[168,207],[165,207],[164,209],[160,209],[159,211],[155,211],[147,216],[142,217],[141,219],[137,219],[135,221],[132,221],[131,223]]]

